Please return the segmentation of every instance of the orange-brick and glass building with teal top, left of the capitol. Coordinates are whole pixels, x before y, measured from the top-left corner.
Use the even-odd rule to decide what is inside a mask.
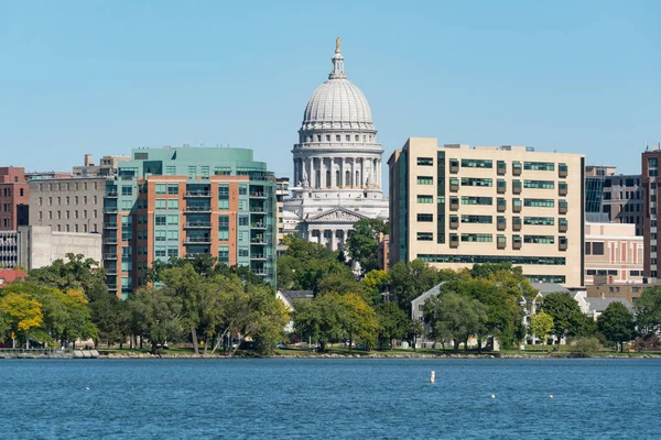
[[[212,254],[275,283],[275,178],[242,148],[138,148],[108,180],[104,262],[126,298],[155,260]]]

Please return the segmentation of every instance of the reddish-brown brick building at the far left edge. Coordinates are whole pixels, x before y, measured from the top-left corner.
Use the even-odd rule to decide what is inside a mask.
[[[28,224],[28,191],[24,168],[0,167],[0,231]]]

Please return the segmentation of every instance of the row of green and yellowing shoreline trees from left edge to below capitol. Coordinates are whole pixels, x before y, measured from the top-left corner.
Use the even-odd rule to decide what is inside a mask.
[[[289,321],[273,287],[246,268],[216,264],[210,255],[154,265],[150,282],[127,300],[109,293],[104,270],[91,258],[67,255],[30,271],[25,280],[0,290],[0,337],[15,346],[68,346],[149,341],[151,352],[189,341],[198,354],[224,341],[232,355],[242,341],[271,354]],[[235,343],[232,343],[235,342]]]

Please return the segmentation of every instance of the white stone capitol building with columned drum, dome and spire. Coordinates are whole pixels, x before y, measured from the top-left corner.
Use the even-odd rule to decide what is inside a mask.
[[[333,72],[305,106],[292,150],[292,197],[284,200],[284,231],[343,248],[356,221],[388,220],[381,191],[377,130],[365,95],[347,79],[336,41]]]

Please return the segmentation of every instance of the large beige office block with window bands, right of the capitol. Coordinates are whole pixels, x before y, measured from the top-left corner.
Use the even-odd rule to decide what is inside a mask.
[[[583,286],[584,162],[410,138],[388,161],[390,264],[511,262],[532,282]]]

